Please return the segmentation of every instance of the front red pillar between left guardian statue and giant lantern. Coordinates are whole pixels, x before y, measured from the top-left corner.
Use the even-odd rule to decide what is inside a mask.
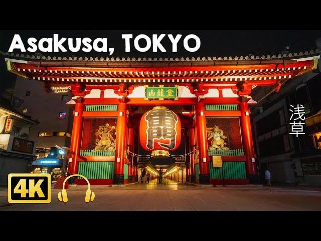
[[[118,104],[118,117],[116,127],[116,153],[115,153],[115,175],[114,184],[124,184],[124,157],[126,149],[126,118],[127,105]]]

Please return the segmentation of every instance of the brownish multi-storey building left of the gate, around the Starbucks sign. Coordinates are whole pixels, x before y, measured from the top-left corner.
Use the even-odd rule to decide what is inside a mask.
[[[43,83],[34,79],[21,81],[18,76],[14,89],[13,101],[19,100],[16,109],[36,119],[39,124],[30,129],[29,136],[37,142],[36,156],[38,159],[47,158],[58,150],[55,146],[70,148],[73,123],[72,109],[66,105],[72,93],[68,88],[53,88],[45,92]],[[13,103],[17,106],[16,103]],[[67,153],[67,152],[66,152]],[[48,165],[34,165],[33,171],[53,173],[53,179],[64,176],[67,169],[67,154],[63,155],[54,169]],[[38,163],[38,162],[36,162]],[[45,163],[45,162],[44,162]]]

